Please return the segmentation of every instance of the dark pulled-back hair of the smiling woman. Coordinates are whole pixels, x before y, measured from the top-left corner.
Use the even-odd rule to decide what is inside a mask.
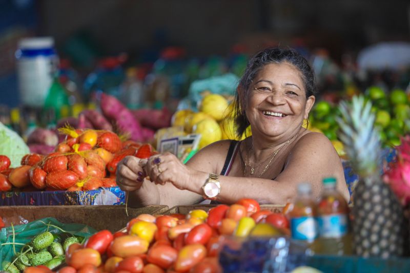
[[[239,97],[239,91],[236,92],[235,95],[235,131],[239,138],[250,124],[245,113],[245,98],[248,96],[249,87],[251,86],[253,79],[265,65],[281,64],[282,62],[287,62],[299,70],[306,90],[306,98],[315,95],[315,75],[308,60],[300,55],[299,52],[294,49],[272,47],[256,53],[248,61],[247,68],[239,80],[238,89],[241,89],[241,97]]]

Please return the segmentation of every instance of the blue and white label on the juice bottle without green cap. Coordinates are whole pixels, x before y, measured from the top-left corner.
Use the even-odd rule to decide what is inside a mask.
[[[313,240],[318,236],[318,225],[314,217],[291,219],[292,238],[296,240]]]

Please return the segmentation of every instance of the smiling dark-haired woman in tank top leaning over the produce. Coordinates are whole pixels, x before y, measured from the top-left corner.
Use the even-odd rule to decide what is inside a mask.
[[[187,164],[172,154],[148,160],[126,157],[117,182],[136,205],[194,204],[203,199],[234,203],[241,198],[284,204],[309,181],[318,197],[321,180],[333,176],[349,198],[341,161],[323,134],[302,127],[315,102],[314,74],[292,49],[268,48],[248,62],[235,97],[236,133],[252,136],[203,148]],[[145,177],[149,176],[150,180]]]

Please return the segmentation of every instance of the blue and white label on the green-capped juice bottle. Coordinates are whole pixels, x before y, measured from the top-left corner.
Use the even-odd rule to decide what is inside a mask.
[[[347,216],[344,214],[318,217],[319,233],[323,238],[340,238],[347,233]]]

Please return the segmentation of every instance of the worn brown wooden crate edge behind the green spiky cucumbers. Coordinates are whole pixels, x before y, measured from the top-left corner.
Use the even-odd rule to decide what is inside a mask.
[[[124,205],[0,206],[0,216],[5,219],[21,216],[30,222],[54,217],[62,223],[86,224],[96,230],[108,229],[116,232],[140,214],[163,214],[168,209],[165,205],[128,207],[127,216]]]

